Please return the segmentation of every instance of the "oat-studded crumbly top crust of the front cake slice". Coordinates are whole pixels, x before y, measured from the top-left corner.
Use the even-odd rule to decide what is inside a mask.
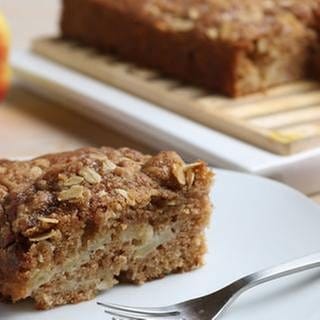
[[[83,228],[103,223],[150,201],[174,205],[177,193],[188,191],[201,175],[211,175],[203,162],[185,164],[175,152],[151,157],[127,148],[0,160],[0,250],[68,237],[75,221]]]

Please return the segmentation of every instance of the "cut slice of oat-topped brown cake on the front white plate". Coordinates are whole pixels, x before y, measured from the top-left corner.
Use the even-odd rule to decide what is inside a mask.
[[[0,160],[0,293],[40,309],[197,268],[212,172],[174,152]]]

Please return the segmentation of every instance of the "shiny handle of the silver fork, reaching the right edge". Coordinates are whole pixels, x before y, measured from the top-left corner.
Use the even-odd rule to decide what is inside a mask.
[[[320,253],[252,273],[234,282],[234,285],[240,286],[240,292],[242,292],[259,284],[317,267],[320,267]]]

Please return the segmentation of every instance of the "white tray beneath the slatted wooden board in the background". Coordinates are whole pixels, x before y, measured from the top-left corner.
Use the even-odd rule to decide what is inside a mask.
[[[320,190],[320,148],[275,155],[36,54],[15,51],[11,64],[28,88],[153,148],[174,148],[217,167],[272,177],[304,193]]]

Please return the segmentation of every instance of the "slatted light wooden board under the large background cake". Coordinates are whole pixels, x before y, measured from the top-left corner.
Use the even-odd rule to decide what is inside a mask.
[[[299,81],[237,99],[186,86],[114,56],[60,38],[33,51],[194,121],[277,154],[320,146],[320,84]]]

